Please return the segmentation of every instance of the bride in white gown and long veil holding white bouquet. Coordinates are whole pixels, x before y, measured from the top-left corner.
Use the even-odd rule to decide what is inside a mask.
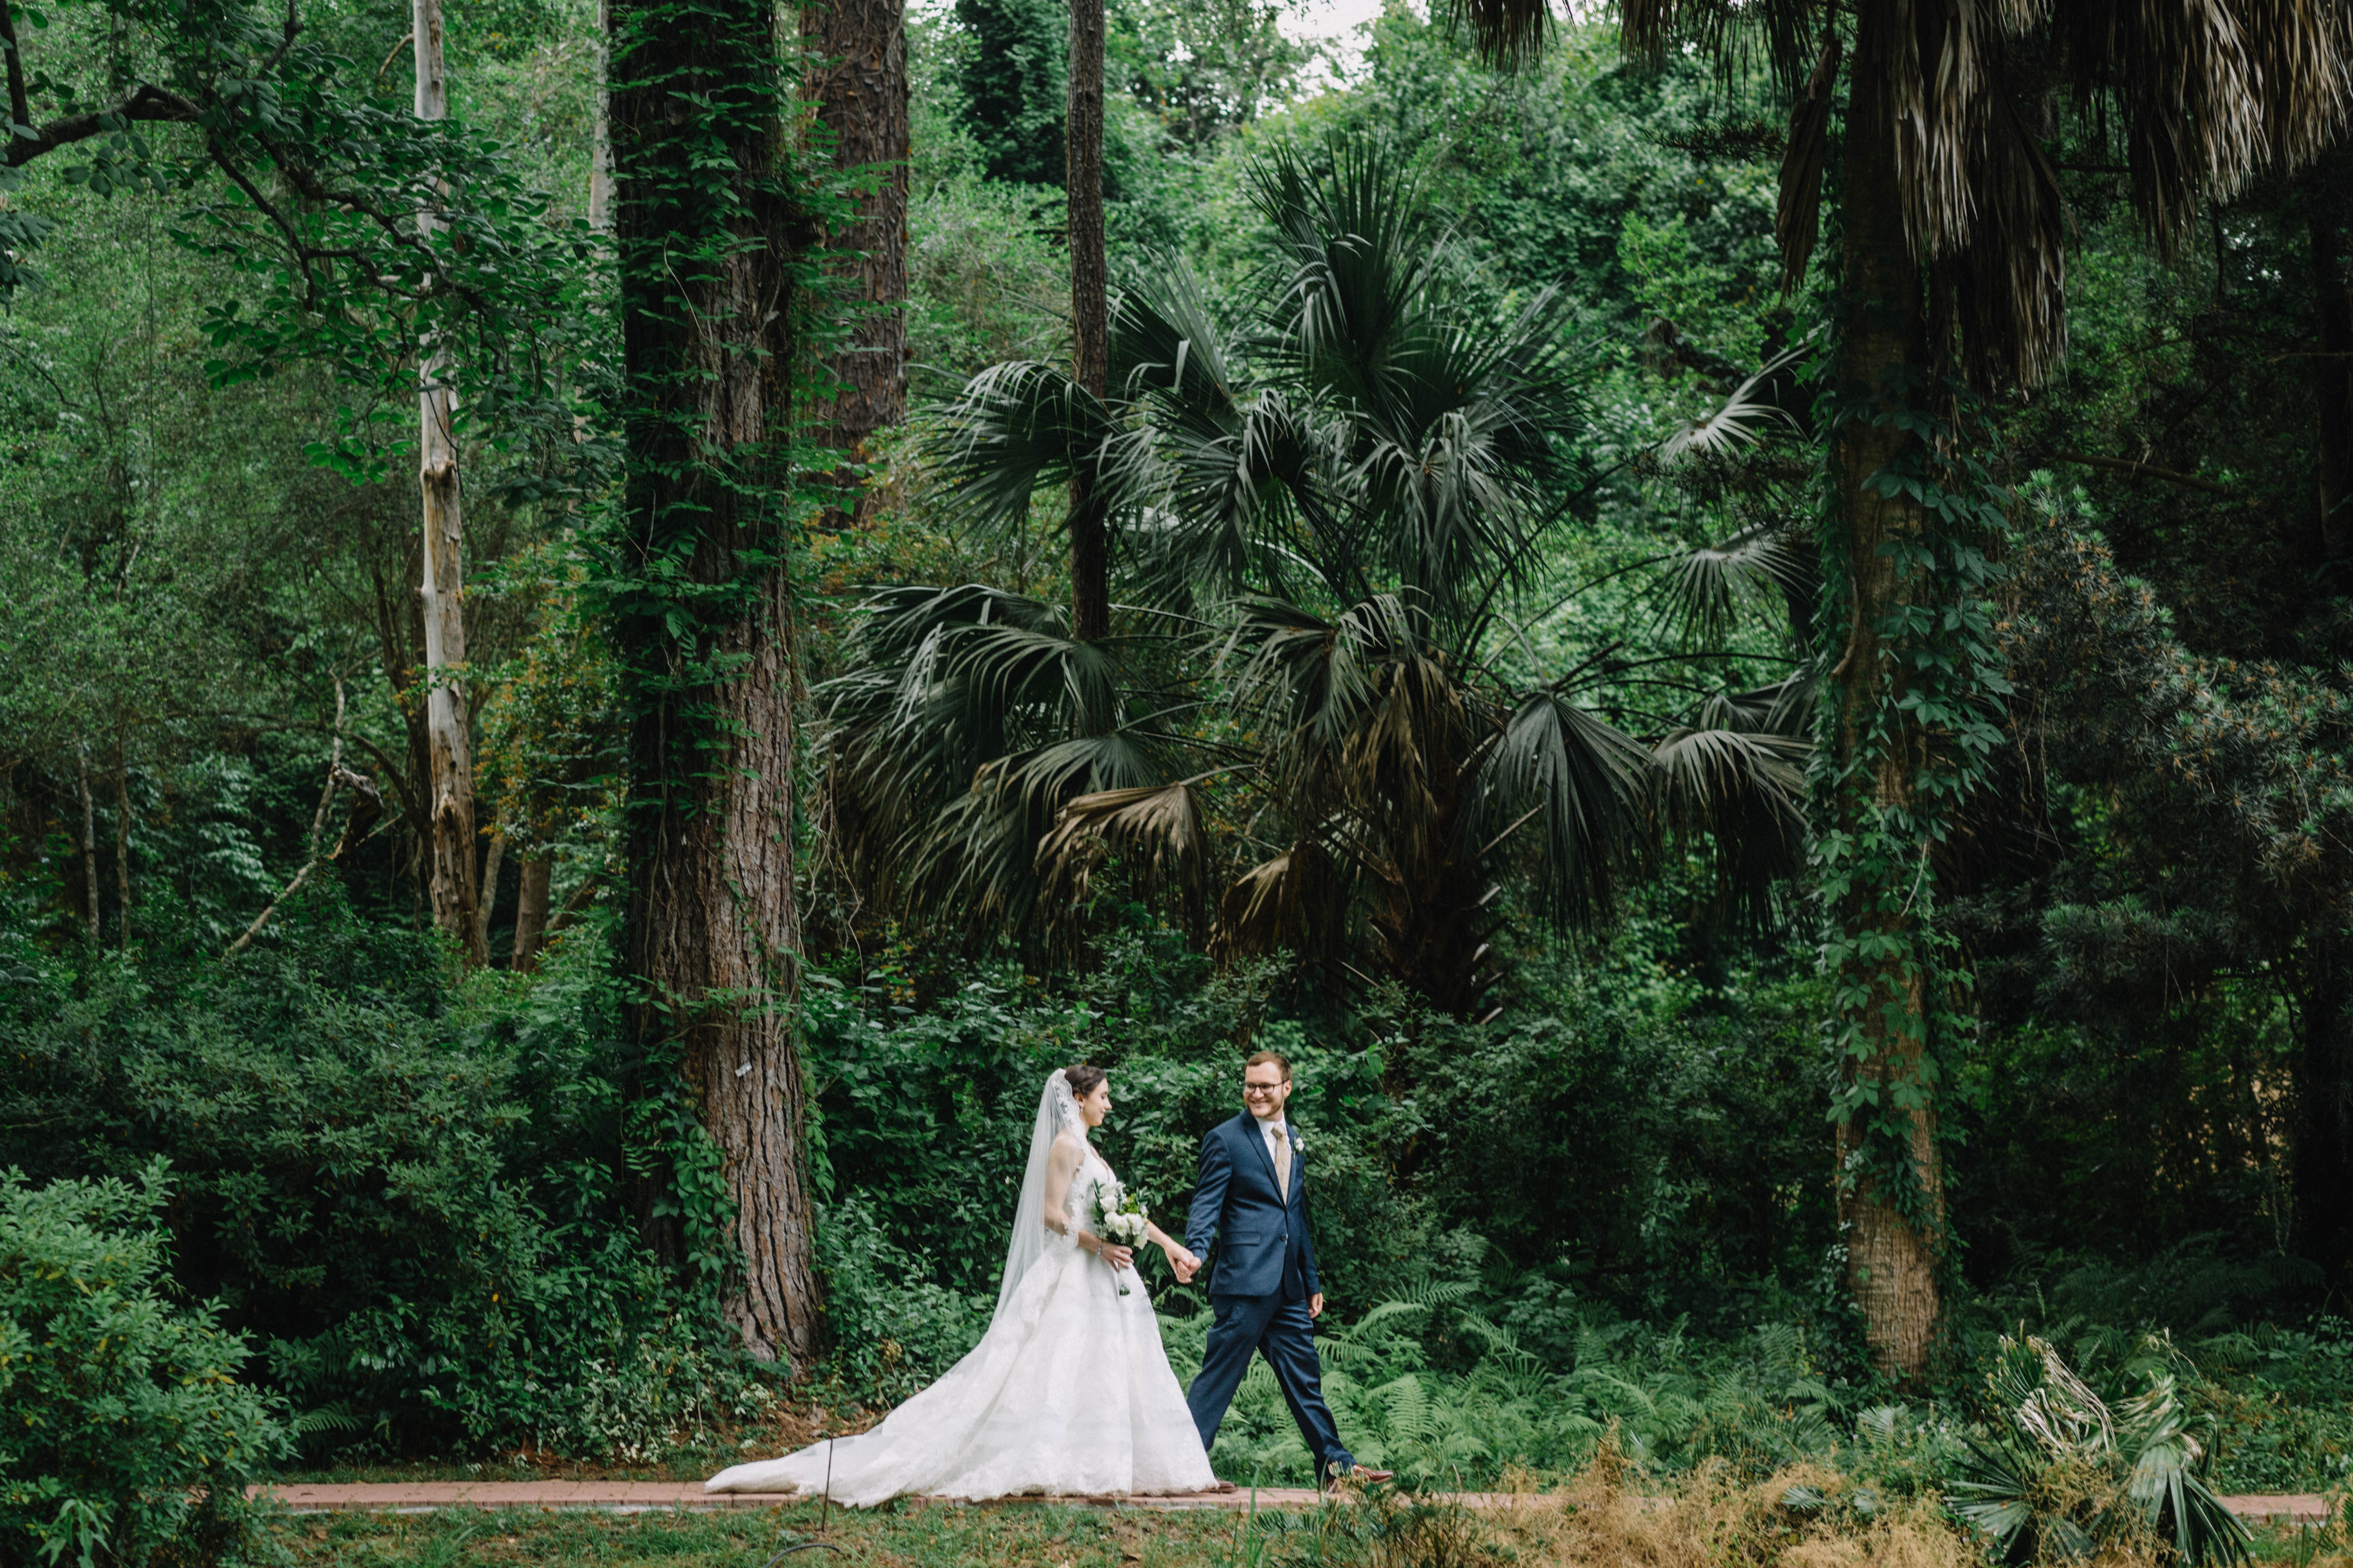
[[[1021,1206],[988,1333],[946,1378],[861,1436],[812,1443],[704,1481],[708,1493],[821,1493],[873,1505],[899,1495],[1195,1493],[1219,1488],[1184,1389],[1160,1349],[1134,1255],[1094,1234],[1113,1180],[1087,1133],[1111,1114],[1101,1067],[1045,1081]],[[1193,1262],[1158,1225],[1169,1262]],[[1125,1281],[1122,1281],[1125,1274]],[[1120,1286],[1127,1295],[1120,1295]]]

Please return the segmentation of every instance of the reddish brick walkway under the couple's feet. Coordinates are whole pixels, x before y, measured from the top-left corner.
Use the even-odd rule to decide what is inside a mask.
[[[706,1493],[699,1481],[367,1481],[358,1486],[256,1486],[296,1514],[424,1514],[433,1509],[607,1509],[638,1514],[645,1509],[765,1509],[793,1502],[760,1493]],[[1508,1493],[1449,1493],[1466,1507],[1499,1507]],[[913,1497],[915,1507],[936,1507],[951,1497]],[[1007,1497],[1005,1505],[1045,1502],[1045,1497]],[[1193,1493],[1186,1497],[1054,1497],[1064,1507],[1127,1509],[1245,1509],[1247,1490]],[[1308,1488],[1259,1488],[1261,1509],[1313,1509]],[[2224,1497],[2224,1505],[2249,1523],[2325,1523],[2327,1505],[2315,1495]]]

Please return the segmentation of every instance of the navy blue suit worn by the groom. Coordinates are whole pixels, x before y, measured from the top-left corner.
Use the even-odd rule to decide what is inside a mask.
[[[1315,1237],[1308,1232],[1306,1154],[1292,1152],[1292,1190],[1285,1199],[1266,1133],[1249,1112],[1219,1121],[1200,1140],[1200,1182],[1193,1187],[1193,1213],[1186,1215],[1186,1251],[1207,1258],[1212,1237],[1219,1241],[1209,1274],[1217,1321],[1209,1326],[1200,1375],[1186,1389],[1200,1446],[1207,1450],[1217,1443],[1226,1406],[1249,1371],[1249,1352],[1261,1352],[1275,1368],[1275,1382],[1318,1472],[1353,1467],[1322,1401],[1322,1363],[1315,1359],[1315,1321],[1308,1316],[1308,1298],[1322,1293],[1322,1286],[1315,1279]]]

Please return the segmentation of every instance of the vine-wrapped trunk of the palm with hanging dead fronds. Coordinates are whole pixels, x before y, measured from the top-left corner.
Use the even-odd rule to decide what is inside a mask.
[[[1878,89],[1882,61],[1894,47],[1889,28],[1889,7],[1861,9],[1840,183],[1845,320],[1838,374],[1842,390],[1857,400],[1857,414],[1838,428],[1831,447],[1852,588],[1849,642],[1831,672],[1838,757],[1831,827],[1849,835],[1849,844],[1873,835],[1878,813],[1911,802],[1922,755],[1908,719],[1894,745],[1866,755],[1866,736],[1885,724],[1882,715],[1901,696],[1901,670],[1880,642],[1880,623],[1904,583],[1880,548],[1920,531],[1915,501],[1880,496],[1866,484],[1915,437],[1894,423],[1873,423],[1871,414],[1894,414],[1915,400],[1927,367],[1920,266],[1904,237],[1897,179],[1899,129]],[[1927,997],[1918,964],[1925,933],[1913,903],[1889,893],[1864,879],[1831,914],[1849,943],[1861,943],[1861,954],[1838,976],[1847,997],[1840,1025],[1852,1041],[1842,1074],[1849,1093],[1864,1091],[1873,1103],[1838,1126],[1838,1215],[1847,1232],[1847,1284],[1864,1312],[1871,1354],[1882,1371],[1918,1378],[1927,1368],[1939,1316],[1944,1171],[1937,1112],[1925,1095]],[[1868,957],[1889,947],[1894,957]],[[1913,1105],[1906,1110],[1906,1103]],[[1868,1138],[1871,1124],[1885,1128],[1885,1119],[1904,1126],[1897,1147]],[[1911,1161],[1915,1192],[1899,1190],[1913,1185],[1901,1180],[1904,1159]],[[1913,1211],[1911,1218],[1906,1211]]]

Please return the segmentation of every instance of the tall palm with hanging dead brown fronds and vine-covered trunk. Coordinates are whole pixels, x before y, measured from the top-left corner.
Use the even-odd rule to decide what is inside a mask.
[[[1631,0],[1638,54],[1697,47],[1727,71],[1762,56],[1791,99],[1777,230],[1795,282],[1819,235],[1833,141],[1838,346],[1828,430],[1833,496],[1824,545],[1845,567],[1831,689],[1828,820],[1854,844],[1915,806],[1920,759],[1951,736],[1904,708],[1889,628],[1944,585],[1911,548],[1929,529],[1918,487],[1878,484],[1922,458],[1918,407],[1939,374],[1979,390],[2035,386],[2066,353],[2059,172],[2035,127],[2061,87],[2094,139],[2120,150],[2132,205],[2160,249],[2200,200],[2231,195],[2261,162],[2301,162],[2337,129],[2346,99],[2344,19],[2308,0]],[[1544,38],[1544,0],[1468,0],[1494,59]],[[1842,136],[1838,87],[1845,75]],[[1892,491],[1892,494],[1889,494]],[[1899,564],[1901,562],[1901,564]],[[1929,976],[1920,903],[1868,882],[1831,910],[1845,952],[1840,1218],[1849,1288],[1875,1359],[1927,1368],[1939,1319],[1944,1187]]]

